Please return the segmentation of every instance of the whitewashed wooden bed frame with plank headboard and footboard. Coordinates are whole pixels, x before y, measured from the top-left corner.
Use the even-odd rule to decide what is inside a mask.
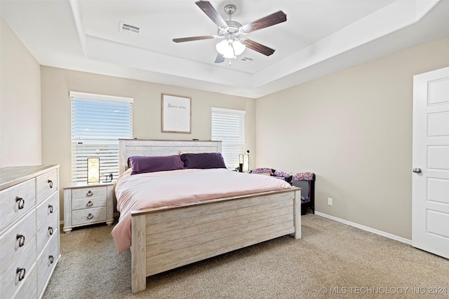
[[[221,153],[221,141],[120,139],[119,172],[126,174],[132,156],[180,153]],[[300,239],[300,198],[292,187],[130,210],[131,290],[145,290],[147,277],[175,267],[283,235]]]

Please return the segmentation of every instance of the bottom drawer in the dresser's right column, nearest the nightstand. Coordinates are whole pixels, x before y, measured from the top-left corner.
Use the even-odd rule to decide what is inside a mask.
[[[59,256],[59,236],[53,235],[41,255],[37,258],[37,293],[39,295],[45,291],[44,288],[51,277]]]

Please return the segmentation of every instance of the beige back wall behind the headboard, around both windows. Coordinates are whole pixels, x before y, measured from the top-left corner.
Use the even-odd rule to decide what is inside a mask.
[[[255,99],[54,67],[41,67],[41,89],[42,160],[60,165],[62,188],[71,180],[69,91],[133,97],[133,137],[139,139],[210,140],[211,107],[245,110],[245,143],[255,157]],[[161,93],[192,97],[192,134],[161,132]]]

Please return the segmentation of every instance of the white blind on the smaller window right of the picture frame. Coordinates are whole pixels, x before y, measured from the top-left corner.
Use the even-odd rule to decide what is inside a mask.
[[[212,140],[222,141],[226,166],[239,167],[245,148],[245,111],[212,107]]]

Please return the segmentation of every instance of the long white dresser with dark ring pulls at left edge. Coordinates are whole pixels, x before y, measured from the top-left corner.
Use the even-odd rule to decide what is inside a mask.
[[[0,168],[1,298],[41,298],[60,258],[59,165]]]

